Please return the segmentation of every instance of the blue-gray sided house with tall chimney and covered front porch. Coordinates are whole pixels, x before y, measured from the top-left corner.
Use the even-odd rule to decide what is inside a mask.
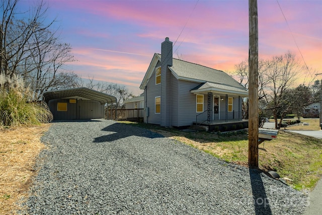
[[[241,109],[247,89],[223,71],[173,58],[172,47],[167,37],[140,85],[144,122],[174,127],[243,123],[240,127],[247,127]]]

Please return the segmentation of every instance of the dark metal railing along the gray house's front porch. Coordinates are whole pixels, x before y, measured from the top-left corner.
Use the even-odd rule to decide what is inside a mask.
[[[213,118],[208,119],[208,110],[198,114],[196,116],[196,124],[202,123],[213,123],[213,122],[228,122],[228,121],[239,121],[243,118],[242,111],[220,111],[218,113],[213,113]]]

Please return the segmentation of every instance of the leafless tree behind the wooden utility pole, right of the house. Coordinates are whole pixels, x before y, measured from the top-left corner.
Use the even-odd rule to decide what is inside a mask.
[[[258,64],[258,97],[260,102],[260,113],[271,111],[275,119],[275,127],[280,127],[285,114],[291,111],[291,106],[298,94],[290,93],[297,79],[297,75],[302,71],[303,66],[296,60],[295,55],[287,52],[284,55],[274,56],[268,60],[259,60]],[[235,65],[234,76],[238,77],[238,82],[248,88],[248,62],[246,60]],[[248,100],[243,104],[243,110],[247,113]],[[277,118],[281,118],[277,122]]]

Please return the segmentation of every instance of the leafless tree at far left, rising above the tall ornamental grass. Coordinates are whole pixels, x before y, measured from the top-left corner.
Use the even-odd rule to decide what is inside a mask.
[[[53,23],[44,25],[42,22],[46,13],[43,2],[33,11],[31,18],[18,19],[16,17],[18,2],[18,0],[2,0],[0,6],[3,11],[0,22],[0,74],[10,78],[19,69],[22,61],[29,56],[28,52],[36,48],[30,47],[30,38],[35,33],[49,28]]]

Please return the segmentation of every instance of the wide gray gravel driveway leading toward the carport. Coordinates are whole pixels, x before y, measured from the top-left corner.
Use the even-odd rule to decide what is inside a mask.
[[[146,129],[55,122],[29,214],[302,214],[307,197]],[[26,212],[26,211],[25,211]]]

